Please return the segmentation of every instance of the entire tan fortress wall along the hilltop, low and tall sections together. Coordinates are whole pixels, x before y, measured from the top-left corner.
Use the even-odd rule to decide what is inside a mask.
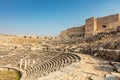
[[[85,25],[73,27],[62,31],[63,35],[95,35],[101,32],[110,32],[120,27],[120,14],[109,15],[99,18],[86,19]]]

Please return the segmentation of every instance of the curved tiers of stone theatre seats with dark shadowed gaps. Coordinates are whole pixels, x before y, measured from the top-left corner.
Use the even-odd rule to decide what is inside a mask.
[[[79,60],[81,60],[81,58],[76,54],[62,53],[43,63],[39,62],[31,66],[28,66],[25,69],[25,71],[28,77],[30,76],[41,77],[56,70],[59,70],[65,66],[68,66],[74,62],[77,62]]]

